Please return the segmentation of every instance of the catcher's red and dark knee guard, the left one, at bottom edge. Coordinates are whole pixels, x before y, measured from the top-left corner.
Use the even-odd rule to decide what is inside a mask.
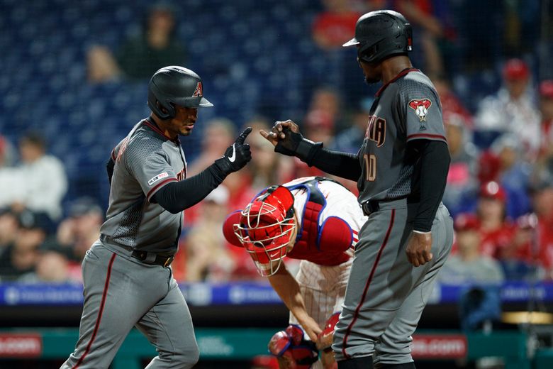
[[[318,360],[315,343],[304,339],[303,329],[296,324],[274,334],[268,347],[277,356],[281,368],[308,369]]]

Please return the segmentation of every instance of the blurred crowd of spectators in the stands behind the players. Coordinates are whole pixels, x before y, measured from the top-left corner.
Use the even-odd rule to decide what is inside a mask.
[[[415,35],[420,35],[415,46],[423,53],[415,57],[415,67],[431,77],[440,94],[452,156],[443,202],[454,217],[456,241],[454,253],[440,272],[441,282],[553,280],[553,79],[537,79],[537,70],[524,58],[528,45],[523,40],[532,36],[533,28],[526,13],[513,18],[522,2],[507,1],[512,9],[505,7],[504,19],[515,26],[505,26],[510,31],[499,45],[504,50],[498,72],[501,88],[471,109],[452,85],[459,60],[452,62],[449,52],[456,45],[462,47],[457,33],[464,33],[466,42],[471,32],[478,30],[452,29],[450,14],[440,3],[325,0],[324,10],[313,21],[313,43],[333,58],[343,41],[351,38],[355,21],[364,11],[392,6],[404,13],[412,21]],[[535,4],[530,1],[526,11]],[[186,43],[175,38],[172,9],[157,6],[151,11],[145,23],[150,30],[147,37],[131,38],[121,50],[102,45],[89,49],[83,61],[89,83],[147,79],[158,67],[186,66]],[[487,37],[476,39],[483,43],[479,50],[499,47],[491,45]],[[473,51],[465,50],[462,62],[466,70],[491,63],[488,55],[473,55]],[[336,66],[345,68],[340,60],[337,58]],[[321,84],[311,91],[306,111],[296,119],[304,136],[322,141],[328,148],[357,153],[372,104],[367,89],[373,87],[366,87],[359,95],[362,98],[357,96],[352,103],[351,91],[345,91],[343,84],[348,76],[359,77],[360,73],[348,70],[340,82]],[[352,83],[354,91],[363,87],[360,78]],[[248,138],[252,161],[245,170],[229,175],[203,202],[185,211],[179,253],[172,264],[177,280],[259,278],[249,255],[225,242],[221,224],[230,211],[242,209],[264,187],[296,177],[325,175],[296,158],[276,155],[257,133],[270,128],[276,119],[288,118],[292,117],[259,115],[237,122],[221,116],[201,121],[205,126],[201,150],[189,158],[189,176],[219,158],[246,126],[254,128]],[[72,183],[68,183],[59,158],[48,154],[48,145],[55,143],[46,143],[40,132],[28,132],[17,143],[0,136],[2,282],[80,282],[81,260],[99,237],[105,209],[96,199],[65,198]],[[357,194],[354,182],[340,182]]]

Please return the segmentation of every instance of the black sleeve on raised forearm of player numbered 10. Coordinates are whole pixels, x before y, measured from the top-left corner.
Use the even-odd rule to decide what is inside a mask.
[[[361,177],[361,165],[357,155],[328,150],[319,145],[312,155],[309,155],[307,165],[318,167],[323,172],[357,182]]]

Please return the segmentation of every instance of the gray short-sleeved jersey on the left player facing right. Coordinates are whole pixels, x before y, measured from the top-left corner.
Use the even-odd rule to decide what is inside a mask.
[[[181,145],[147,119],[113,149],[115,162],[106,222],[101,233],[137,250],[174,253],[182,214],[150,202],[169,182],[186,177]]]

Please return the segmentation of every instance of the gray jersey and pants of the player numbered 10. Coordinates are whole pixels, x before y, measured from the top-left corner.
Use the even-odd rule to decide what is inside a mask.
[[[371,110],[357,185],[360,203],[379,206],[359,231],[333,351],[337,361],[372,356],[379,367],[413,361],[411,334],[451,250],[453,222],[440,204],[434,258],[414,268],[405,251],[419,207],[420,155],[408,151],[408,142],[445,141],[440,99],[428,77],[404,70],[381,87]]]

